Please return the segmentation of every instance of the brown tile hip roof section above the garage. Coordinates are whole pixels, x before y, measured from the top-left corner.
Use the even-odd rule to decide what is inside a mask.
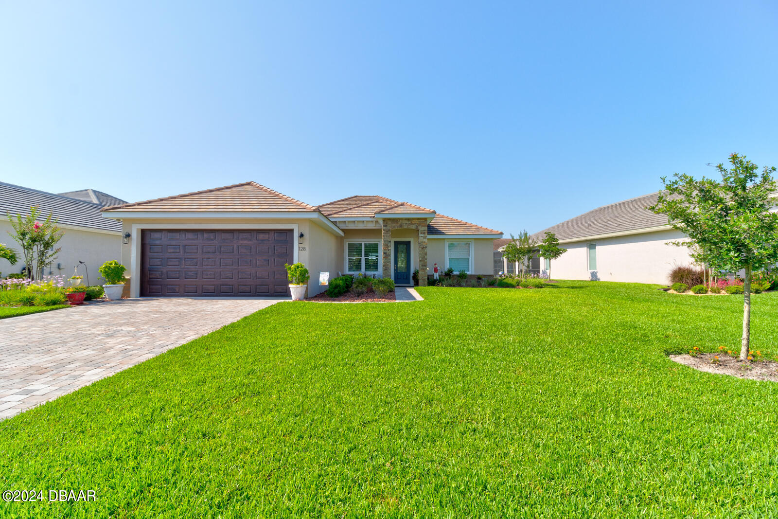
[[[155,198],[145,202],[113,205],[103,211],[251,211],[309,212],[315,211],[294,198],[282,195],[256,182],[233,184],[223,188],[205,189],[184,195]]]

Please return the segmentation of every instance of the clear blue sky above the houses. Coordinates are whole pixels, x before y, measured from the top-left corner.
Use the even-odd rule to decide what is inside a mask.
[[[767,0],[4,2],[0,180],[535,231],[732,152],[778,166],[776,65]]]

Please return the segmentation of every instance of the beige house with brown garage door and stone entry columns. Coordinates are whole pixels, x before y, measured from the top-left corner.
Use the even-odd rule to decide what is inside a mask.
[[[255,182],[146,202],[115,205],[129,244],[129,295],[286,296],[284,264],[310,271],[308,294],[326,289],[321,273],[391,277],[419,284],[443,269],[492,275],[499,231],[381,196],[352,196],[318,206]]]

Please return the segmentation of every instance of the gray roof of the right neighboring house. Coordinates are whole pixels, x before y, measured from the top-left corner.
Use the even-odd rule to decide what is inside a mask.
[[[557,240],[574,240],[599,234],[621,233],[629,230],[645,229],[668,225],[666,215],[657,215],[646,209],[657,203],[658,193],[650,193],[623,202],[603,205],[583,215],[576,216],[555,226],[534,233],[532,236],[542,240],[545,232],[554,233]]]

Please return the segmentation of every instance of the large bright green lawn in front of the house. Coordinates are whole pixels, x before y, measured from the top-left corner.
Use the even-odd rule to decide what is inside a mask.
[[[0,423],[0,488],[98,498],[0,514],[778,513],[778,385],[666,357],[738,345],[741,298],[419,293],[279,303]],[[776,349],[778,293],[753,310],[755,348]]]

